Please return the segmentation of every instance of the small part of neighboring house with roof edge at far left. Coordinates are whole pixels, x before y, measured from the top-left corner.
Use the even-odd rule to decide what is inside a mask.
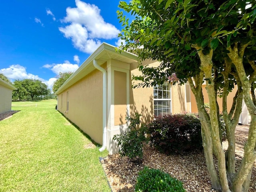
[[[17,88],[0,79],[0,114],[12,110],[12,90]]]

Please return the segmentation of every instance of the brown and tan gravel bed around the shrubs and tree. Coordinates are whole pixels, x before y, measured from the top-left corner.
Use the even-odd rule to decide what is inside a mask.
[[[241,127],[240,127],[241,128]],[[248,135],[248,128],[242,127],[236,130],[236,158],[237,164],[243,156],[243,146]],[[223,142],[226,149],[228,142]],[[134,164],[128,158],[120,158],[119,154],[107,156],[102,162],[108,182],[113,192],[133,192],[138,172],[144,166],[156,168],[167,172],[172,177],[183,182],[187,192],[216,192],[211,188],[210,177],[206,168],[204,153],[194,151],[178,155],[165,155],[159,153],[149,145],[144,147],[142,164]],[[256,191],[256,163],[252,170],[252,180],[249,192]]]

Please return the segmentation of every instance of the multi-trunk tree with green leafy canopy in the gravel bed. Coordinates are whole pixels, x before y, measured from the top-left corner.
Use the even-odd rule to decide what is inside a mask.
[[[129,4],[121,1],[119,7],[134,17],[129,22],[122,10],[117,11],[123,26],[119,36],[126,42],[119,51],[133,51],[140,60],[160,61],[158,67],[138,66],[142,75],[133,76],[134,80],[139,80],[134,88],[163,84],[175,78],[179,79],[176,82],[179,84],[188,82],[196,98],[212,188],[247,192],[256,159],[256,1],[132,0]],[[204,107],[204,82],[209,113]],[[233,89],[234,85],[237,90]],[[227,96],[231,91],[236,91],[236,95],[228,110]],[[226,152],[219,131],[217,96],[223,101],[228,139]],[[236,171],[235,128],[242,99],[251,122],[244,157]],[[218,160],[218,172],[213,156]]]

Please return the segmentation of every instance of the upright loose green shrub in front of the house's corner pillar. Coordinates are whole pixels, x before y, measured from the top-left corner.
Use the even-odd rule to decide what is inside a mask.
[[[131,116],[126,117],[129,122],[129,130],[123,134],[116,134],[113,140],[117,141],[119,146],[120,156],[127,156],[133,162],[141,162],[143,159],[143,143],[146,141],[145,137],[145,126],[142,124],[141,128],[138,129],[140,124],[141,114],[136,113],[135,118]]]

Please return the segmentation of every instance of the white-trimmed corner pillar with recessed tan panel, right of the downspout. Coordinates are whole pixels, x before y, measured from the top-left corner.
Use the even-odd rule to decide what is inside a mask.
[[[109,154],[118,152],[115,134],[128,131],[126,116],[129,110],[130,64],[118,60],[108,60],[108,126],[107,149]]]

